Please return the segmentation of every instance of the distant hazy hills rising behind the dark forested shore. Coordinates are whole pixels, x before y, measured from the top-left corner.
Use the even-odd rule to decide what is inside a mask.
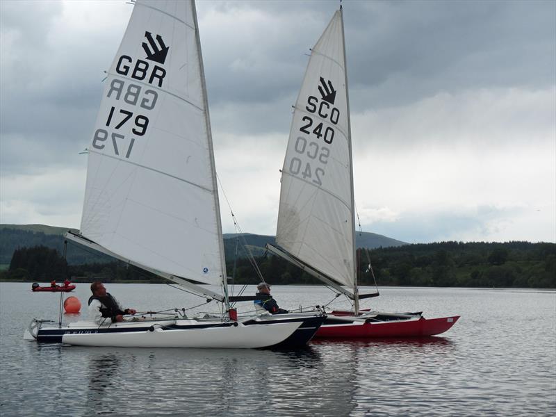
[[[18,247],[31,247],[44,245],[54,247],[58,252],[63,252],[63,235],[70,229],[68,227],[54,227],[46,224],[0,224],[0,264],[10,263],[13,252]],[[377,247],[393,247],[407,245],[401,240],[395,240],[379,234],[359,232],[355,236],[357,247],[374,249]],[[265,252],[267,243],[275,244],[275,236],[258,234],[224,234],[224,252],[227,261],[236,258],[261,256]],[[81,245],[68,246],[67,261],[71,264],[101,263],[109,261],[106,255],[84,250]]]

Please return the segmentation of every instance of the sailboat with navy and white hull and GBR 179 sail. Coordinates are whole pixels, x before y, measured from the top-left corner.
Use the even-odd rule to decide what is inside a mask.
[[[101,326],[35,319],[28,333],[91,346],[305,345],[322,314],[238,318],[230,304],[194,1],[136,1],[105,84],[88,149],[81,233],[66,237],[218,300],[222,315]]]

